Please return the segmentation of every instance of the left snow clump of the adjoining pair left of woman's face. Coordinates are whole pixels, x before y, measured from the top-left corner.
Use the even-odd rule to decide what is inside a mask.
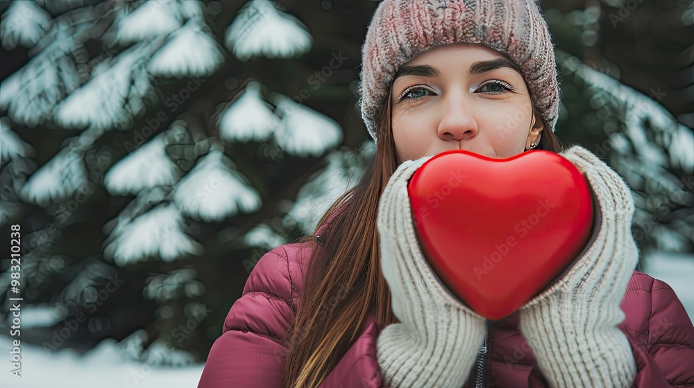
[[[260,82],[248,82],[241,96],[219,115],[219,137],[226,141],[266,141],[279,123],[260,95]]]

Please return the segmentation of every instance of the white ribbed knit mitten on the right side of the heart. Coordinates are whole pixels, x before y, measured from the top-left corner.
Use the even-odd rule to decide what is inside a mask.
[[[552,387],[630,387],[636,364],[617,325],[638,261],[634,200],[622,178],[589,150],[574,145],[560,155],[587,175],[602,224],[566,276],[521,307],[521,332]]]

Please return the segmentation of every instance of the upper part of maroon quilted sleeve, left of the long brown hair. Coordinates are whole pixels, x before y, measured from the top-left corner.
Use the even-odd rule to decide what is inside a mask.
[[[255,264],[210,349],[198,388],[285,387],[285,334],[297,292],[291,278],[301,270],[287,254],[286,246],[277,247]]]

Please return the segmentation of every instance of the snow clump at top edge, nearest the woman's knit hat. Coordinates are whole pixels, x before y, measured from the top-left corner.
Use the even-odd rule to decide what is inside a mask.
[[[227,48],[239,60],[253,57],[292,58],[307,53],[313,38],[304,24],[269,0],[251,0],[226,31]]]

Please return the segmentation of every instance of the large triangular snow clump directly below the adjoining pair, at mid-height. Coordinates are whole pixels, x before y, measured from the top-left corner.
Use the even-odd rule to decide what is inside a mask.
[[[178,209],[186,217],[205,222],[219,222],[239,211],[258,211],[260,194],[234,168],[221,151],[205,155],[174,189]]]

